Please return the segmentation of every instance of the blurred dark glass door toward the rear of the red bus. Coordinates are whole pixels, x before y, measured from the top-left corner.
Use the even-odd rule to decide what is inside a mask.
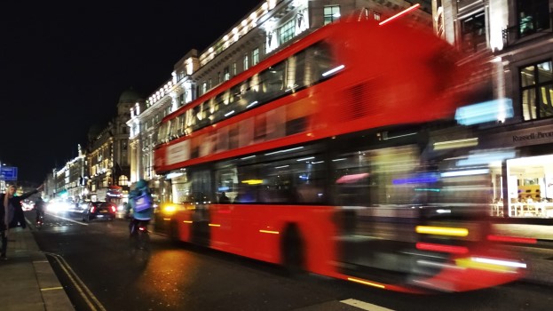
[[[409,207],[411,185],[402,184],[418,168],[415,145],[360,149],[332,158],[340,270],[383,283],[402,283],[412,266],[417,210]]]

